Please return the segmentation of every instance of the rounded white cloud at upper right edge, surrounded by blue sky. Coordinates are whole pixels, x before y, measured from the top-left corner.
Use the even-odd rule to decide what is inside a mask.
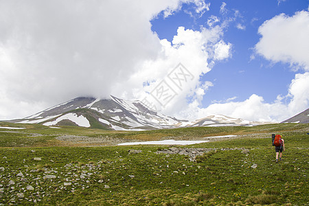
[[[294,16],[279,14],[259,27],[260,41],[255,45],[258,54],[273,62],[287,62],[309,71],[309,12]]]

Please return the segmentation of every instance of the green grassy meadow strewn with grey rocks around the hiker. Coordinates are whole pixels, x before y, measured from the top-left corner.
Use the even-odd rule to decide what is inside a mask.
[[[0,128],[0,205],[309,204],[309,124],[143,132],[0,126],[25,128]],[[279,163],[271,133],[282,134],[286,142]],[[171,146],[65,146],[56,139],[59,135],[141,141],[246,136],[174,146],[213,149],[190,161],[185,155],[156,153]]]

